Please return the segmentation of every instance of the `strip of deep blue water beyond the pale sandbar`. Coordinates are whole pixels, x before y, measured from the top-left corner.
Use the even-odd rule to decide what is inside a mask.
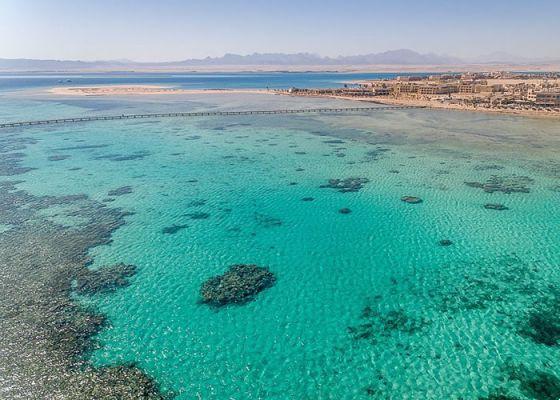
[[[393,78],[397,75],[407,74],[338,72],[1,74],[0,91],[60,86],[61,84],[69,86],[158,84],[188,89],[324,88],[342,87],[345,83],[355,80]],[[70,82],[67,82],[68,80]]]

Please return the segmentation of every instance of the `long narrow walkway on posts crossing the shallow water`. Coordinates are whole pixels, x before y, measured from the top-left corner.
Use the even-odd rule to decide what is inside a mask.
[[[365,111],[387,111],[405,110],[411,108],[423,108],[418,106],[385,106],[385,107],[342,107],[342,108],[303,108],[294,110],[247,110],[247,111],[201,111],[201,112],[177,112],[177,113],[153,113],[153,114],[122,114],[122,115],[95,115],[90,117],[45,119],[38,121],[21,121],[0,123],[1,128],[16,128],[22,126],[71,124],[76,122],[110,121],[119,119],[140,118],[190,118],[190,117],[215,117],[235,115],[276,115],[276,114],[308,114],[308,113],[344,113]]]

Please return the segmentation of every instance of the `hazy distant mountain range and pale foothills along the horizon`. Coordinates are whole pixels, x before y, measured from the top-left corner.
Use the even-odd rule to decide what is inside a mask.
[[[250,55],[226,54],[222,57],[187,59],[172,62],[136,62],[129,60],[75,61],[75,60],[37,60],[0,58],[0,71],[37,72],[37,71],[142,71],[142,70],[198,70],[220,67],[267,67],[290,69],[291,67],[338,67],[338,66],[459,66],[474,64],[508,64],[511,66],[545,65],[559,63],[557,59],[528,59],[511,54],[496,52],[472,59],[461,59],[433,53],[421,54],[413,50],[401,49],[382,53],[356,56],[323,57],[310,53],[254,53]]]

